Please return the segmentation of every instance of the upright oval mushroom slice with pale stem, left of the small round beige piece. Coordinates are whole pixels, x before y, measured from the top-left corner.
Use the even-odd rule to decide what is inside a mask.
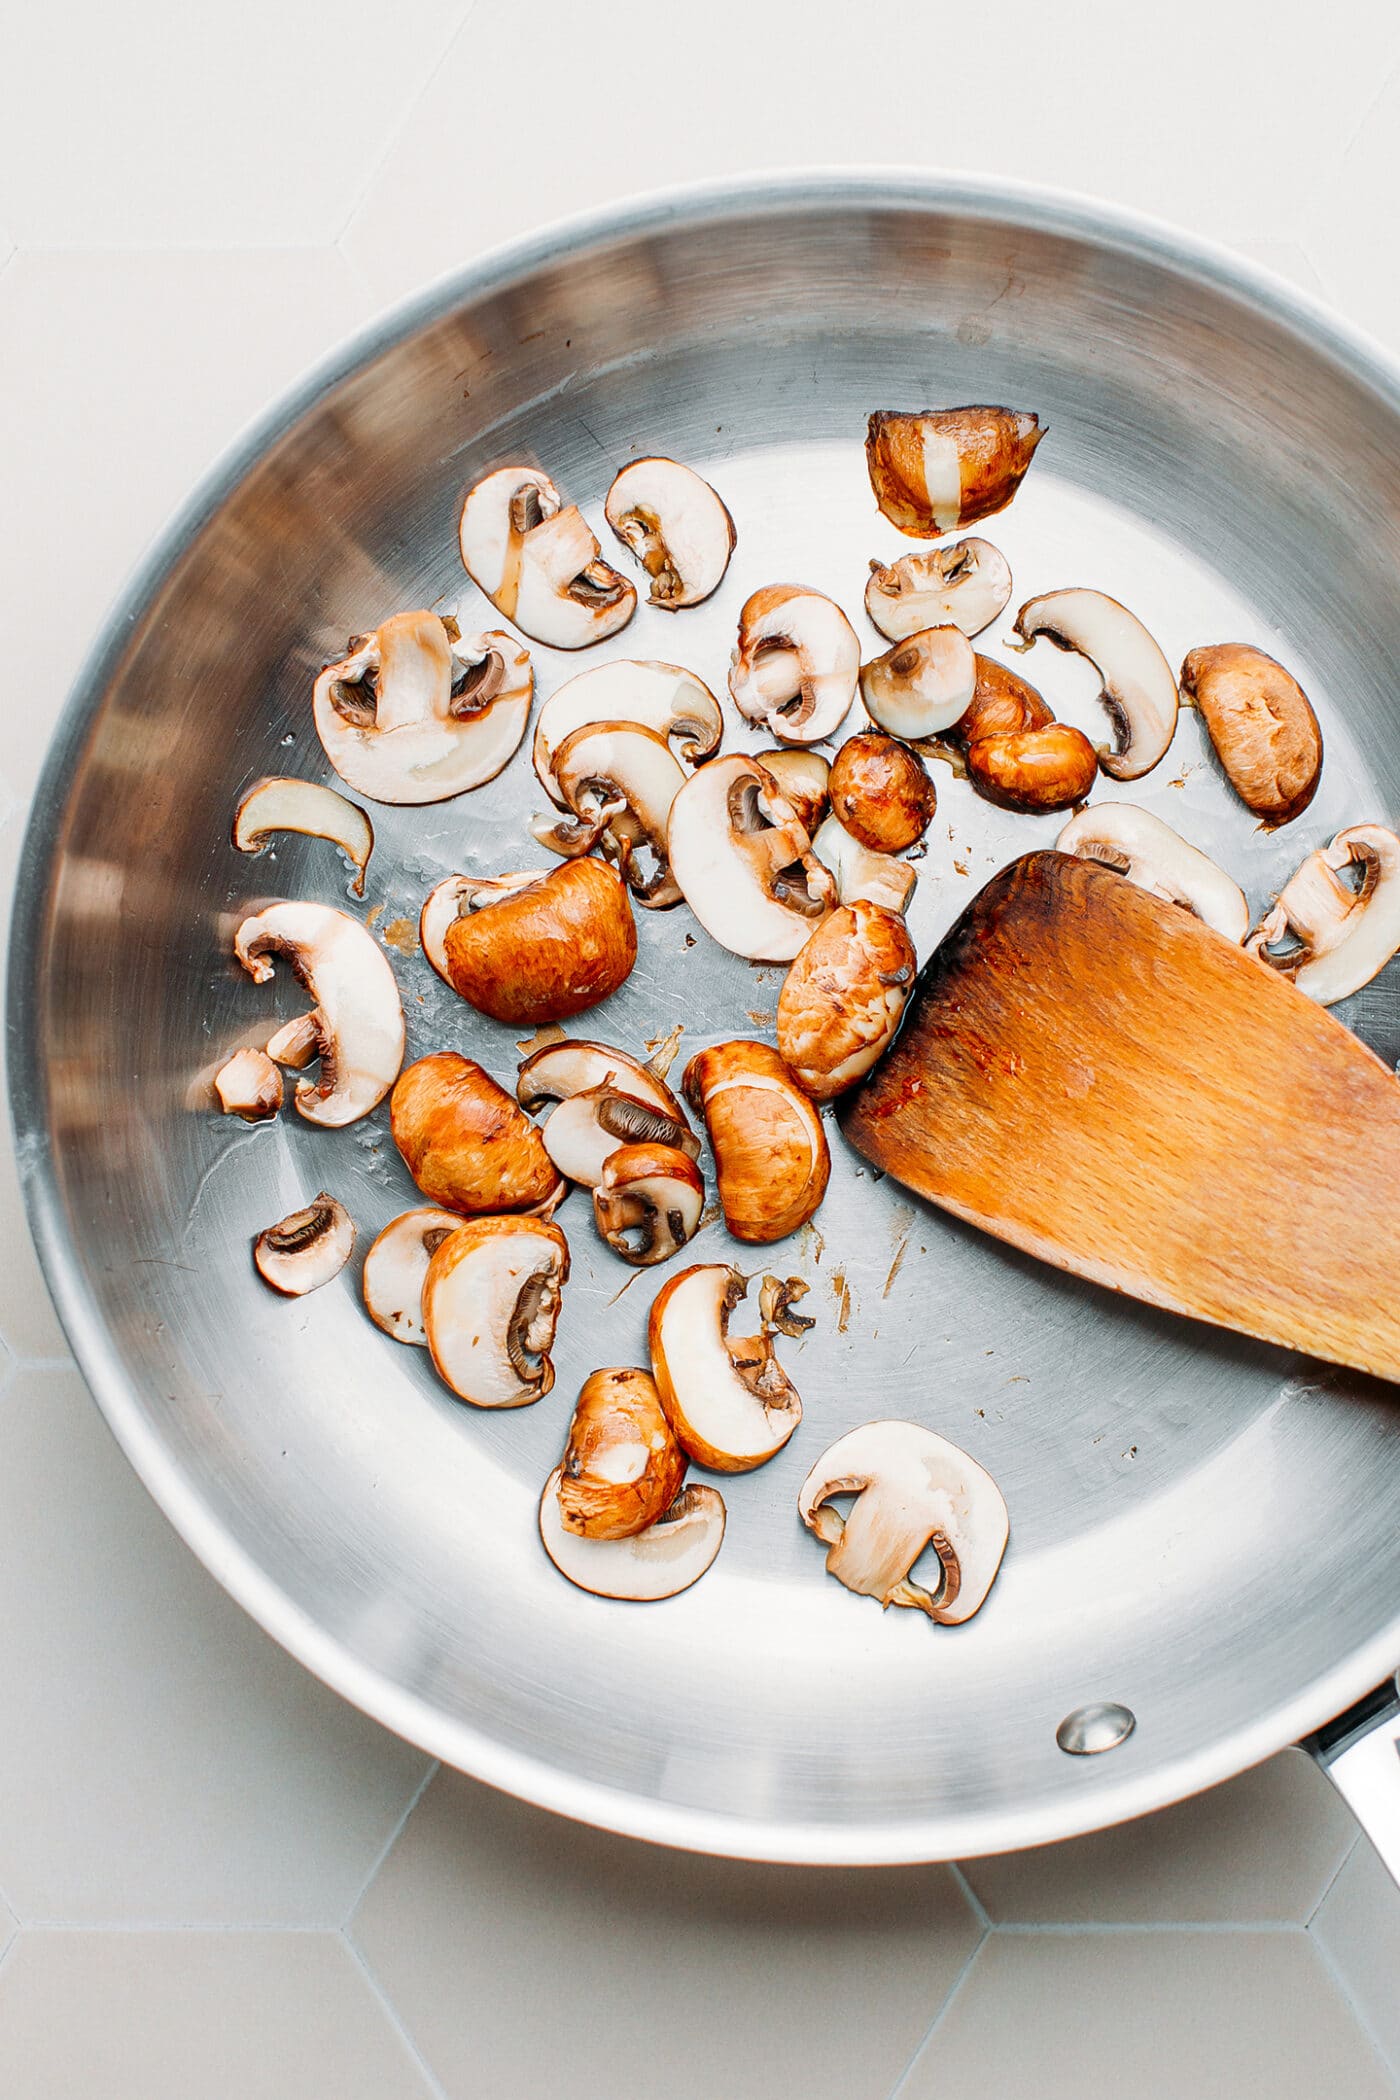
[[[802,584],[766,584],[739,613],[728,689],[783,743],[821,743],[856,697],[861,643],[846,613]]]

